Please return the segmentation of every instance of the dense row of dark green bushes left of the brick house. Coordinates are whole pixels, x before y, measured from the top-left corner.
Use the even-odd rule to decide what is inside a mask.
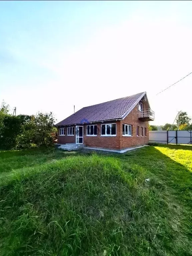
[[[54,117],[50,113],[37,115],[8,114],[8,105],[0,107],[0,149],[24,149],[51,145]]]

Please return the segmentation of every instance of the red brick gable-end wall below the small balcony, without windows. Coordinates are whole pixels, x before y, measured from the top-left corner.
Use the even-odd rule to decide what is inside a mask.
[[[143,109],[148,108],[148,104],[144,103]],[[148,122],[143,122],[138,119],[139,110],[138,105],[121,121],[121,130],[120,130],[120,148],[127,148],[135,145],[146,145],[149,141],[149,129]],[[123,135],[123,124],[132,125],[132,136],[122,136]],[[137,136],[137,126],[139,126],[139,137]],[[141,136],[141,127],[143,127],[143,137]],[[145,128],[147,129],[147,136],[145,137]]]

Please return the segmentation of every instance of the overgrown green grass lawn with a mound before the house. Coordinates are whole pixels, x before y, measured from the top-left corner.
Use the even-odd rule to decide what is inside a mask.
[[[192,255],[191,189],[188,145],[0,151],[0,256]]]

